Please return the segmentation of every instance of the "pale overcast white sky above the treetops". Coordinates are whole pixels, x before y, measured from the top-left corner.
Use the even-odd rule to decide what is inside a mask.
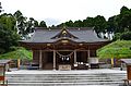
[[[5,13],[20,10],[24,16],[45,21],[48,26],[96,15],[104,15],[108,20],[119,14],[123,5],[131,9],[131,0],[0,0],[0,2]]]

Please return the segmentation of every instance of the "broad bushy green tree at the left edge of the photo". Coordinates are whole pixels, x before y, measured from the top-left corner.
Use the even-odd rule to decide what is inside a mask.
[[[12,46],[17,46],[19,39],[13,16],[7,13],[0,15],[0,53],[10,51]]]

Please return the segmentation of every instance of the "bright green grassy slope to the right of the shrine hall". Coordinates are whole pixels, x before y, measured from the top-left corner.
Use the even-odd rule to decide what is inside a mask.
[[[117,40],[97,50],[99,58],[131,58],[131,40]]]

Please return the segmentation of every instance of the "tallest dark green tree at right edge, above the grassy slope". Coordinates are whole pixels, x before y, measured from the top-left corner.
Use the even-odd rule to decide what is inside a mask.
[[[114,38],[124,37],[122,34],[126,34],[127,32],[131,30],[131,10],[129,10],[127,7],[122,7],[120,9],[120,14],[116,15],[114,21],[115,21],[114,22],[114,25],[115,25],[114,33],[115,34],[117,34],[117,33],[120,34],[119,37],[114,37]],[[117,36],[117,35],[115,35],[115,36]]]

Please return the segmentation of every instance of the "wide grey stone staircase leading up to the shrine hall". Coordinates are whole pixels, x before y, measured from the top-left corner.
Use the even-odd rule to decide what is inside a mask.
[[[62,72],[62,71],[61,71]],[[9,86],[119,86],[126,73],[7,74]]]

